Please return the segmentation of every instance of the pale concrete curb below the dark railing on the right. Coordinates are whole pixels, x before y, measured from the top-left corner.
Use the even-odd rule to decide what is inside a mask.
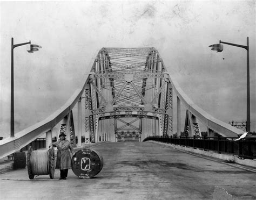
[[[221,160],[224,160],[227,162],[233,161],[234,163],[238,163],[240,165],[245,165],[245,166],[250,166],[250,167],[256,168],[256,160],[255,159],[254,160],[240,159],[237,155],[221,154],[221,153],[215,153],[212,151],[203,151],[200,149],[194,149],[191,147],[173,145],[173,144],[168,144],[168,143],[158,142],[158,141],[147,141],[147,142],[153,142],[153,143],[169,146],[169,147],[172,147],[172,148],[175,148],[178,150],[183,150],[188,153],[190,152],[190,153],[195,153],[195,154],[199,154],[199,155],[206,155],[206,156],[221,159]]]

